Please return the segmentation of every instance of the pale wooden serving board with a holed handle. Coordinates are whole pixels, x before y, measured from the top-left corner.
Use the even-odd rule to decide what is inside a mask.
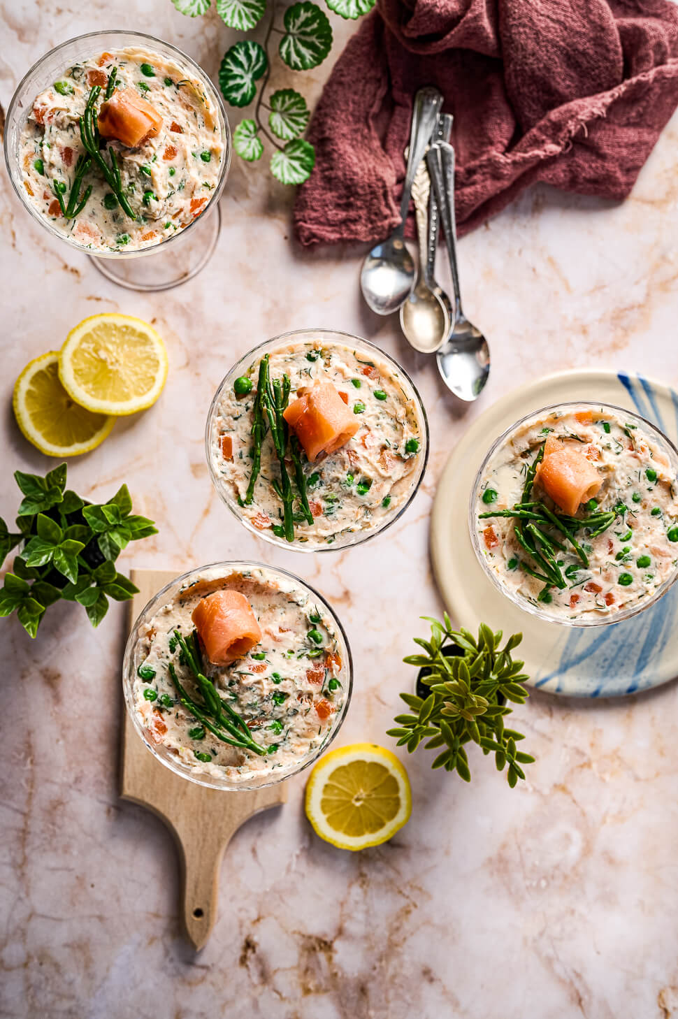
[[[129,628],[146,603],[175,574],[133,570],[139,594],[129,602]],[[120,796],[160,817],[174,836],[181,863],[186,932],[202,949],[216,919],[219,868],[231,837],[248,818],[286,800],[284,783],[267,789],[229,792],[198,786],[157,760],[124,711]]]

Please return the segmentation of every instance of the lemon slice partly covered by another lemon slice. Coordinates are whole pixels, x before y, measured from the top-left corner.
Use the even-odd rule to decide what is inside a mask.
[[[59,381],[59,352],[25,366],[12,397],[16,423],[29,442],[48,457],[79,457],[100,445],[115,418],[74,404]]]

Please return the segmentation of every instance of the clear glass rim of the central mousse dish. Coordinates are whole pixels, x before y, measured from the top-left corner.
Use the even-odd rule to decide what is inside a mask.
[[[378,357],[383,358],[390,365],[395,365],[395,367],[398,370],[398,372],[405,378],[405,380],[407,381],[408,385],[412,389],[412,392],[413,392],[414,398],[415,398],[415,404],[416,404],[417,409],[418,409],[418,411],[419,411],[419,413],[421,415],[421,420],[422,420],[422,423],[423,423],[423,430],[422,430],[422,435],[424,437],[423,450],[422,450],[423,451],[423,459],[422,459],[421,467],[420,467],[420,470],[419,470],[419,476],[417,477],[416,482],[412,485],[412,488],[411,488],[411,490],[410,490],[410,492],[408,494],[408,497],[405,499],[405,501],[403,502],[402,506],[400,506],[400,508],[398,509],[398,512],[393,515],[393,517],[386,518],[385,523],[381,527],[379,527],[378,529],[373,530],[373,531],[367,531],[362,537],[358,537],[358,539],[356,541],[350,541],[350,542],[347,542],[344,545],[337,545],[334,542],[331,542],[330,544],[326,544],[325,543],[324,545],[310,545],[310,546],[308,546],[306,542],[299,542],[298,543],[296,541],[285,541],[284,538],[278,538],[278,537],[276,537],[276,535],[274,535],[272,533],[272,531],[270,533],[268,532],[268,530],[266,530],[266,531],[259,531],[257,528],[255,528],[250,523],[250,521],[248,521],[242,514],[240,514],[238,512],[238,509],[236,507],[236,500],[234,499],[231,500],[231,499],[229,499],[227,497],[226,493],[223,491],[223,486],[221,484],[219,484],[219,479],[215,475],[214,467],[212,465],[212,458],[211,458],[211,427],[212,427],[212,422],[213,422],[213,419],[214,419],[216,407],[217,407],[217,405],[219,403],[219,399],[220,399],[221,394],[223,392],[223,389],[224,389],[224,387],[226,385],[226,382],[232,376],[232,374],[236,371],[236,369],[239,368],[244,362],[247,362],[251,358],[256,357],[257,353],[262,347],[267,346],[269,343],[283,342],[285,340],[294,339],[295,337],[307,336],[307,335],[310,335],[311,333],[324,333],[325,335],[331,335],[332,337],[336,337],[337,341],[350,340],[351,342],[354,342],[354,343],[356,341],[359,342],[359,343],[364,343],[365,346],[368,347],[370,351],[374,351],[375,354]],[[395,358],[392,358],[389,354],[386,354],[385,351],[382,351],[380,346],[376,345],[376,343],[372,343],[369,339],[363,339],[362,336],[356,336],[353,333],[343,332],[342,330],[338,330],[338,329],[326,329],[326,328],[292,329],[289,332],[281,332],[277,336],[271,336],[270,339],[265,339],[265,340],[263,340],[263,342],[257,343],[255,346],[253,346],[246,354],[242,355],[242,357],[240,357],[238,359],[238,361],[234,362],[234,364],[229,368],[229,370],[226,372],[226,374],[223,376],[223,378],[219,382],[219,385],[217,386],[216,392],[214,393],[214,396],[212,397],[212,401],[210,404],[210,408],[209,408],[209,411],[208,411],[208,414],[207,414],[207,422],[206,422],[206,425],[205,425],[205,458],[207,460],[207,468],[208,468],[208,471],[209,471],[210,480],[212,482],[212,485],[214,486],[214,489],[215,489],[217,495],[219,496],[219,498],[221,499],[221,501],[228,507],[228,509],[230,509],[230,512],[232,513],[232,515],[241,522],[241,524],[244,527],[246,527],[247,530],[250,531],[252,534],[254,534],[257,538],[261,538],[262,541],[267,541],[269,544],[275,545],[277,548],[285,548],[289,551],[302,552],[302,553],[306,553],[307,555],[313,554],[313,553],[317,553],[317,552],[321,552],[321,553],[322,552],[329,552],[329,553],[331,553],[331,552],[341,552],[341,551],[344,551],[347,548],[355,548],[357,545],[362,545],[366,541],[369,541],[370,539],[376,538],[378,535],[383,534],[383,532],[386,531],[392,526],[392,524],[395,524],[396,521],[400,520],[400,518],[403,516],[403,514],[406,512],[406,509],[409,508],[410,504],[414,500],[417,492],[419,491],[419,489],[421,487],[421,483],[422,483],[422,481],[424,479],[424,475],[426,473],[426,468],[428,466],[429,452],[430,452],[430,430],[429,430],[429,426],[428,426],[428,416],[426,414],[426,408],[424,406],[423,399],[421,398],[419,390],[417,389],[416,385],[412,381],[409,373],[405,370],[405,368],[402,367],[402,365],[400,365],[396,361]]]

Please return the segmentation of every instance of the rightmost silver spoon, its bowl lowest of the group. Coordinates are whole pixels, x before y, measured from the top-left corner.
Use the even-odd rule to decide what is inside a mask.
[[[435,357],[438,371],[448,388],[460,399],[470,403],[477,399],[487,381],[489,347],[480,330],[469,322],[462,311],[455,228],[455,150],[446,142],[436,142],[428,150],[426,165],[440,206],[456,312],[452,332]]]

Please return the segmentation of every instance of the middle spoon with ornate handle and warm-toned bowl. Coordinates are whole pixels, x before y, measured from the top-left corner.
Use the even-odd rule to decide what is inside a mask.
[[[451,114],[441,114],[438,117],[435,138],[448,142],[452,122]],[[439,217],[437,202],[423,161],[419,164],[414,178],[412,197],[417,217],[421,274],[409,298],[404,305],[401,305],[401,329],[415,351],[419,351],[420,354],[434,354],[447,339],[455,313],[450,298],[438,286],[433,276]]]

